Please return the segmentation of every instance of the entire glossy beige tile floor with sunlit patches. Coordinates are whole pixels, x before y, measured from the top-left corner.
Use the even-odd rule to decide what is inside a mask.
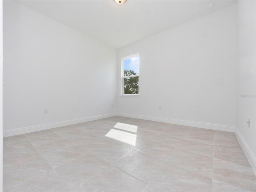
[[[234,133],[112,117],[4,138],[4,192],[244,192]]]

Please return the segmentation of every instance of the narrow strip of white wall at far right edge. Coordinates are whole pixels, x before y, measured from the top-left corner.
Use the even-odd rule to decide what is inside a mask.
[[[256,4],[237,2],[237,112],[236,134],[244,152],[256,172]],[[250,118],[250,127],[247,120]]]

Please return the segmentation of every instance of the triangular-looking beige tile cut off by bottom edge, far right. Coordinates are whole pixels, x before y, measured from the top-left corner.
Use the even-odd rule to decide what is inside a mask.
[[[246,192],[246,190],[213,179],[212,192]]]

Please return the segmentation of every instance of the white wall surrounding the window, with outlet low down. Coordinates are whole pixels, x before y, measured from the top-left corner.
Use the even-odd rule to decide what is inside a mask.
[[[234,131],[236,4],[118,49],[118,78],[135,53],[140,96],[120,96],[118,81],[119,114]]]

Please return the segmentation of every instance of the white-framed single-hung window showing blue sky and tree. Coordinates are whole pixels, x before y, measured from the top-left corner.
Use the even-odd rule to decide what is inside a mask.
[[[139,94],[139,54],[122,58],[122,95]]]

